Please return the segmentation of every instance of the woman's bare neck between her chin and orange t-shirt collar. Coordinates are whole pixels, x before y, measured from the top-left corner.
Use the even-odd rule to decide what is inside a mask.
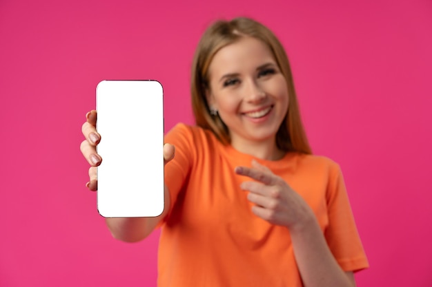
[[[262,160],[280,160],[285,155],[285,151],[277,148],[275,138],[256,142],[235,137],[231,138],[231,145],[237,149],[237,151],[255,156],[255,158]]]

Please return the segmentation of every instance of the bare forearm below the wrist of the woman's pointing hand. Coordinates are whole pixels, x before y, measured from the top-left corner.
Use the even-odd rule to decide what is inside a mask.
[[[353,278],[337,264],[315,217],[290,232],[305,287],[355,287]]]

